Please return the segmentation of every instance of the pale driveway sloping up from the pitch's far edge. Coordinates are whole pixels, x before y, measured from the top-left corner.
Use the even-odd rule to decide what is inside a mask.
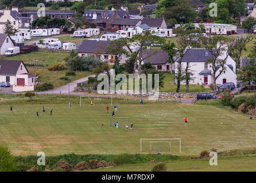
[[[64,86],[60,86],[54,90],[45,91],[45,92],[35,92],[35,93],[36,94],[72,94],[72,95],[76,95],[77,93],[74,93],[73,90],[75,90],[77,83],[88,81],[89,77],[95,77],[95,75],[88,75],[87,77],[77,79],[76,81],[70,82]]]

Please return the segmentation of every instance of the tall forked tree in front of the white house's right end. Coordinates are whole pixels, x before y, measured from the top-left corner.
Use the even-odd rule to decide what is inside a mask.
[[[216,79],[226,70],[226,60],[228,58],[228,50],[234,42],[228,43],[227,37],[214,35],[213,37],[205,37],[203,45],[209,51],[212,58],[207,59],[207,63],[212,65],[212,78],[214,90],[216,90]]]

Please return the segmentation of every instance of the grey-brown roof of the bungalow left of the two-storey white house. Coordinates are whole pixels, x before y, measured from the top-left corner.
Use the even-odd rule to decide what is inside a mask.
[[[142,53],[142,58],[145,63],[152,63],[152,65],[165,64],[168,61],[169,55],[161,49],[149,49]]]

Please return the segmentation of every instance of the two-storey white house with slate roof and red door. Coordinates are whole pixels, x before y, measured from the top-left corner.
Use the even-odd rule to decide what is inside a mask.
[[[223,52],[220,55],[220,59],[226,57],[226,53]],[[207,49],[189,49],[187,53],[184,55],[183,60],[181,61],[181,65],[183,69],[189,65],[189,71],[193,73],[194,79],[190,82],[190,84],[199,84],[199,85],[210,85],[213,83],[213,70],[212,64],[207,63],[207,59],[212,58],[212,55]],[[175,72],[178,72],[178,62],[180,58],[176,59],[175,62]],[[216,75],[220,72],[220,66],[216,66],[218,68]],[[233,82],[236,84],[236,63],[230,55],[228,55],[226,59],[226,64],[224,65],[226,70],[223,71],[222,74],[216,80],[216,85],[222,85],[226,82]]]

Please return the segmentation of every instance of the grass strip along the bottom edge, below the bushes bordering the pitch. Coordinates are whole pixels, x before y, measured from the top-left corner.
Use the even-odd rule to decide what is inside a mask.
[[[226,171],[256,171],[256,156],[220,157],[217,166],[210,166],[209,159],[183,160],[166,163],[170,172],[226,172]],[[113,168],[101,168],[87,171],[94,172],[150,172],[156,164],[119,165]]]

